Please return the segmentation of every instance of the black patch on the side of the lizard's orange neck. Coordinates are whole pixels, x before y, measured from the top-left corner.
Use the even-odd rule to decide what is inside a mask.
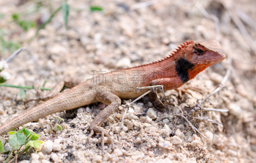
[[[186,83],[188,81],[188,70],[193,69],[194,66],[195,64],[189,62],[184,58],[180,58],[176,62],[175,70],[183,83]]]

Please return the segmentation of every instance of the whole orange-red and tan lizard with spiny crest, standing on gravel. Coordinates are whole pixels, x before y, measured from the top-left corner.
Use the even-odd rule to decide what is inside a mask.
[[[93,136],[94,132],[101,134],[103,155],[104,135],[109,138],[112,150],[114,150],[114,142],[101,125],[121,105],[121,99],[135,99],[142,95],[143,92],[138,92],[137,87],[163,85],[164,90],[177,89],[188,80],[195,78],[199,72],[225,58],[225,51],[218,41],[186,41],[186,43],[180,44],[180,47],[176,48],[176,51],[173,51],[171,55],[160,61],[110,71],[101,74],[101,78],[95,76],[85,82],[63,78],[48,94],[39,96],[38,99],[45,101],[44,103],[2,124],[0,136],[46,115],[102,102],[107,107],[96,115],[90,123],[88,139]],[[71,89],[59,94],[64,86]],[[157,92],[151,91],[149,97],[153,106],[160,111],[166,108],[158,99]]]

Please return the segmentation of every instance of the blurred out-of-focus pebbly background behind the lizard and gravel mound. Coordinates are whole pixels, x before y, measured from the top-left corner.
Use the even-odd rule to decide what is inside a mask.
[[[232,67],[221,100],[218,95],[212,99],[212,107],[230,109],[216,115],[223,123],[216,134],[226,129],[226,139],[213,146],[215,161],[255,162],[255,8],[255,0],[0,1],[1,60],[26,47],[4,70],[10,74],[5,83],[42,85],[47,80],[45,87],[51,88],[64,76],[85,80],[92,78],[92,70],[154,62],[184,41],[215,39],[227,58],[189,83],[204,89],[202,99]],[[18,88],[0,90],[3,124],[25,107]],[[26,90],[25,98],[35,96]],[[214,128],[209,130],[212,134]]]

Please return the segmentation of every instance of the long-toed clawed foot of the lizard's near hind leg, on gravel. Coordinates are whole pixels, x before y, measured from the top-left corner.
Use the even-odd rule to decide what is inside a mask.
[[[92,127],[90,127],[90,128],[92,128]],[[101,155],[103,156],[103,154],[104,154],[104,135],[106,135],[108,137],[108,139],[110,140],[110,143],[112,145],[112,152],[113,152],[115,149],[115,144],[114,144],[114,141],[111,138],[111,136],[100,126],[93,126],[93,128],[95,128],[96,132],[100,131],[100,134],[101,134],[101,150],[102,150]],[[94,134],[94,131],[92,129],[91,133],[89,134],[89,136],[87,138],[88,143],[89,143],[89,138],[92,137],[93,134]]]

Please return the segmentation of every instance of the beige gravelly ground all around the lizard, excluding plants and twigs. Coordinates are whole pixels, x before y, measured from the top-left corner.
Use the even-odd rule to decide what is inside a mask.
[[[256,162],[256,57],[231,19],[236,15],[232,8],[237,7],[256,20],[256,1],[161,0],[136,9],[135,5],[142,2],[69,0],[68,29],[59,11],[36,37],[38,25],[61,6],[61,1],[0,2],[1,39],[26,47],[12,60],[9,69],[4,70],[11,75],[6,81],[8,84],[33,85],[36,82],[42,85],[47,80],[45,87],[51,88],[65,76],[86,80],[92,77],[91,70],[110,71],[154,62],[168,56],[181,42],[215,39],[215,22],[205,18],[196,3],[202,4],[209,14],[220,20],[219,41],[227,55],[223,62],[212,65],[183,86],[200,88],[201,93],[188,89],[190,94],[179,96],[175,90],[167,91],[169,111],[158,112],[148,102],[147,96],[135,102],[129,108],[118,141],[118,125],[124,114],[124,108],[120,106],[103,124],[114,139],[114,152],[106,139],[105,154],[101,156],[99,134],[87,143],[89,124],[105,107],[102,103],[95,103],[28,123],[28,128],[42,135],[44,143],[40,149],[31,149],[20,156],[18,162]],[[101,6],[103,11],[90,12],[90,6]],[[24,30],[13,20],[15,13],[20,20],[32,21],[37,26]],[[245,25],[245,29],[254,44],[255,26]],[[6,59],[12,51],[2,50],[1,59]],[[207,137],[204,139],[200,134],[194,134],[188,123],[174,113],[187,114],[196,100],[202,100],[220,84],[230,66],[232,72],[226,87],[201,105],[229,109],[229,112],[206,110],[202,115],[195,115],[223,124],[193,120],[187,116]],[[26,107],[18,95],[18,88],[0,87],[0,90],[0,124],[3,124]],[[27,99],[36,96],[35,90],[27,90]],[[122,104],[131,101],[122,100]],[[31,102],[28,106],[33,104]],[[65,120],[62,124],[66,129],[59,131],[53,139],[42,123],[54,122],[58,116]],[[4,135],[2,140],[7,137]],[[215,139],[221,140],[210,149],[209,144]],[[8,157],[8,145],[5,150],[7,153],[0,155],[1,162]]]

